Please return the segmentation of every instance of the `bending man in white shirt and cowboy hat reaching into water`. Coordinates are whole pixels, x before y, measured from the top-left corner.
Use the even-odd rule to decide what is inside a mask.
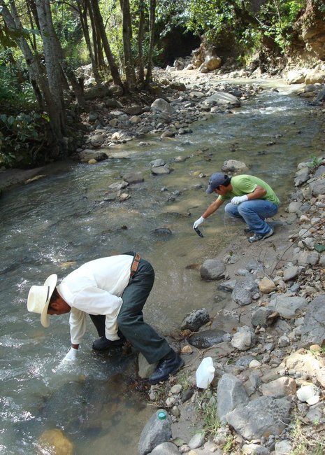
[[[100,338],[93,349],[122,346],[128,339],[148,363],[158,363],[150,384],[168,379],[184,361],[150,325],[143,321],[143,306],[154,283],[154,269],[138,253],[86,262],[57,285],[52,274],[43,286],[31,286],[27,309],[41,314],[44,327],[49,314],[70,313],[71,349],[64,360],[75,360],[86,330],[87,314]]]

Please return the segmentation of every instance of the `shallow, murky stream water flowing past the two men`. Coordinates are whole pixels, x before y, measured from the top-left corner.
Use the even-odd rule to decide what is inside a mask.
[[[225,228],[222,213],[202,225],[203,239],[192,230],[212,201],[205,195],[208,176],[224,160],[244,161],[285,204],[296,165],[317,155],[319,125],[310,106],[287,85],[277,82],[278,92],[264,85],[266,90],[233,113],[192,125],[192,134],[142,138],[146,146],[131,141],[114,148],[110,160],[71,165],[1,197],[1,454],[36,454],[38,438],[53,428],[63,430],[78,455],[89,449],[98,455],[136,453],[153,409],[136,382],[128,384],[123,376],[133,371],[134,356],[93,353],[96,332],[89,322],[78,363],[62,367],[68,315],[52,316],[50,328],[42,328],[27,311],[29,287],[87,260],[136,250],[156,271],[145,318],[162,334],[178,329],[192,309],[223,307],[222,296],[215,302],[215,283],[201,281],[198,270],[187,267],[214,257],[238,232]],[[173,162],[177,156],[187,160]],[[170,163],[173,172],[152,176],[156,158]],[[129,200],[109,201],[108,186],[133,170],[143,172],[145,181],[131,186]],[[157,234],[156,228],[169,228],[172,235]]]

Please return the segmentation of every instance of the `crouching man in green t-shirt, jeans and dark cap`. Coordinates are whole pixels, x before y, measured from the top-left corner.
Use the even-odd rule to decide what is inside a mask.
[[[210,177],[205,193],[217,193],[218,197],[195,221],[194,229],[198,228],[205,218],[215,213],[224,201],[230,200],[224,211],[236,218],[242,218],[246,222],[245,232],[253,233],[252,237],[248,239],[250,243],[273,235],[273,229],[265,219],[277,213],[280,200],[265,181],[247,174],[229,177],[221,172],[216,172]]]

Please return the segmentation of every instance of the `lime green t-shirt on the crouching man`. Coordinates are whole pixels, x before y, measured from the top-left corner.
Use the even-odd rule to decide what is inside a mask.
[[[265,199],[277,205],[280,204],[280,200],[278,199],[277,195],[274,193],[270,185],[268,185],[268,183],[259,179],[258,177],[246,174],[231,177],[231,186],[233,187],[233,190],[229,191],[229,193],[227,193],[226,196],[219,195],[218,199],[225,201],[232,199],[234,196],[247,195],[249,193],[253,193],[257,186],[261,186],[266,190],[266,195],[261,197],[261,199]]]

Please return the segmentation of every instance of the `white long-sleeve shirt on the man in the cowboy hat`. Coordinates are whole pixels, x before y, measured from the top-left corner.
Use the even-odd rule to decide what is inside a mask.
[[[105,335],[110,340],[117,335],[117,316],[122,293],[130,279],[131,255],[116,255],[91,260],[68,274],[57,286],[59,295],[71,307],[71,343],[80,344],[86,330],[86,314],[104,314]]]

